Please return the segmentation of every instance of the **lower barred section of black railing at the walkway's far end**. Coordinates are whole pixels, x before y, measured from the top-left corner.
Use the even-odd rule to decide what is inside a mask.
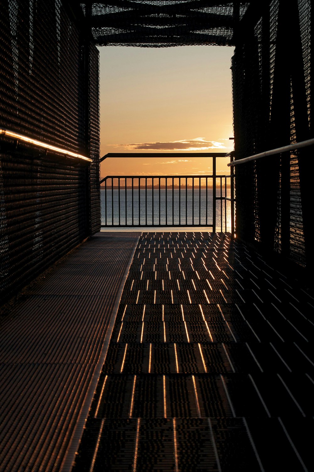
[[[201,227],[232,231],[230,175],[107,176],[102,227]]]

